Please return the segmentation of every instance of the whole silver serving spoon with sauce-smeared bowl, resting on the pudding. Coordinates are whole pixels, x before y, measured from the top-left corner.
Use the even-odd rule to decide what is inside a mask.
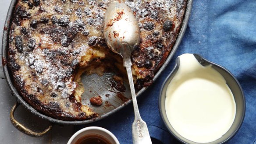
[[[139,44],[140,30],[132,10],[120,1],[112,2],[105,13],[103,34],[107,46],[124,59],[130,83],[135,119],[132,123],[133,144],[152,144],[146,123],[141,119],[132,78],[131,53]]]

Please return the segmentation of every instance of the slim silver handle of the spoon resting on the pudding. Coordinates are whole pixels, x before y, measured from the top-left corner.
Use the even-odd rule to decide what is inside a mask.
[[[131,62],[130,58],[129,58],[129,61]],[[134,109],[134,114],[135,114],[135,119],[134,119],[134,122],[132,123],[133,144],[152,144],[150,136],[149,136],[149,130],[148,130],[147,124],[146,124],[146,122],[144,122],[141,119],[141,116],[139,114],[139,107],[138,107],[137,99],[136,99],[136,95],[135,95],[131,65],[128,64],[125,67],[127,70],[129,84],[130,84],[130,88],[131,88],[131,92],[132,92],[132,103],[133,103],[133,109]]]

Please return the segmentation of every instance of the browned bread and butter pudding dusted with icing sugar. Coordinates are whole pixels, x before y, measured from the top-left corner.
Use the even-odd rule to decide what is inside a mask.
[[[125,77],[120,56],[103,37],[111,0],[18,0],[8,40],[8,67],[15,87],[33,108],[61,120],[98,114],[82,105],[81,75],[114,71]],[[124,1],[139,21],[141,41],[132,53],[137,90],[152,84],[170,53],[185,14],[186,0]]]

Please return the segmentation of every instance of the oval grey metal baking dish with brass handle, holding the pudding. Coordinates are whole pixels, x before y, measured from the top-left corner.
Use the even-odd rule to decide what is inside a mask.
[[[7,49],[8,49],[8,34],[10,31],[10,24],[13,18],[13,11],[14,11],[14,6],[16,5],[17,0],[12,0],[11,1],[11,5],[9,7],[8,13],[7,13],[7,18],[6,18],[6,22],[5,22],[5,27],[4,27],[4,32],[3,32],[3,41],[2,41],[2,59],[3,59],[3,70],[4,70],[4,75],[6,77],[6,81],[7,84],[9,85],[10,89],[11,89],[11,93],[12,95],[16,98],[17,102],[24,105],[25,108],[27,108],[29,111],[31,111],[33,114],[42,117],[43,119],[49,120],[51,123],[56,123],[56,124],[72,124],[72,125],[79,125],[79,124],[86,124],[86,123],[92,123],[95,122],[97,120],[103,119],[107,116],[109,116],[110,114],[113,114],[114,112],[117,112],[118,110],[122,109],[125,105],[131,103],[131,99],[129,99],[127,102],[122,103],[121,105],[118,105],[116,107],[114,107],[111,110],[105,109],[102,110],[102,112],[100,112],[100,115],[98,117],[96,117],[95,119],[88,119],[88,120],[82,120],[82,121],[64,121],[64,120],[59,120],[59,119],[54,119],[50,116],[46,116],[38,111],[36,111],[36,109],[32,108],[27,102],[25,102],[25,100],[21,97],[21,95],[19,95],[19,92],[17,91],[17,89],[14,87],[10,72],[8,70],[7,64],[6,64],[6,60],[7,58]],[[155,74],[153,81],[156,81],[156,78],[160,76],[161,72],[165,69],[165,67],[167,66],[167,64],[171,61],[174,53],[176,52],[176,50],[178,49],[178,46],[181,42],[181,39],[185,33],[187,24],[188,24],[188,19],[189,19],[189,15],[190,15],[190,11],[192,8],[192,0],[188,0],[187,1],[187,5],[185,8],[185,15],[181,24],[181,29],[180,32],[178,34],[178,37],[176,39],[176,42],[174,43],[174,46],[169,54],[169,56],[167,57],[167,59],[165,60],[164,64],[160,67],[160,69],[157,71],[157,73]],[[108,82],[106,82],[106,78],[110,77],[111,74],[104,74],[103,77],[97,77],[96,75],[90,75],[89,77],[87,77],[86,81],[89,81],[89,84],[92,84],[92,81],[94,81],[95,79],[105,79],[101,85],[98,85],[96,87],[100,88],[100,87],[104,87],[106,86],[106,84],[108,84]],[[89,80],[88,80],[89,78]],[[83,83],[86,85],[86,82],[83,81]],[[87,82],[88,84],[88,82]],[[109,86],[109,84],[108,84]],[[146,88],[142,88],[140,91],[137,92],[136,96],[138,97],[139,95],[142,95],[142,93],[146,90]],[[126,93],[129,93],[126,92]],[[112,99],[114,101],[114,99]],[[119,99],[120,101],[120,99]],[[21,124],[19,124],[13,116],[13,112],[16,109],[17,105],[14,105],[12,112],[11,112],[11,121],[14,124],[14,126],[16,128],[18,128],[19,130],[32,135],[32,136],[36,136],[39,137],[41,135],[43,135],[44,133],[30,133],[28,132],[29,130],[24,130],[25,127],[22,126]],[[50,130],[50,127],[48,129],[46,129],[47,131]]]

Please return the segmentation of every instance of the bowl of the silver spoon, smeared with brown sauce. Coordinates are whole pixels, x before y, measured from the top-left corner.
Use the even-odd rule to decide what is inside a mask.
[[[114,53],[121,53],[123,43],[130,45],[132,52],[134,46],[139,44],[139,24],[132,10],[124,3],[112,2],[105,13],[103,34],[107,46]]]

